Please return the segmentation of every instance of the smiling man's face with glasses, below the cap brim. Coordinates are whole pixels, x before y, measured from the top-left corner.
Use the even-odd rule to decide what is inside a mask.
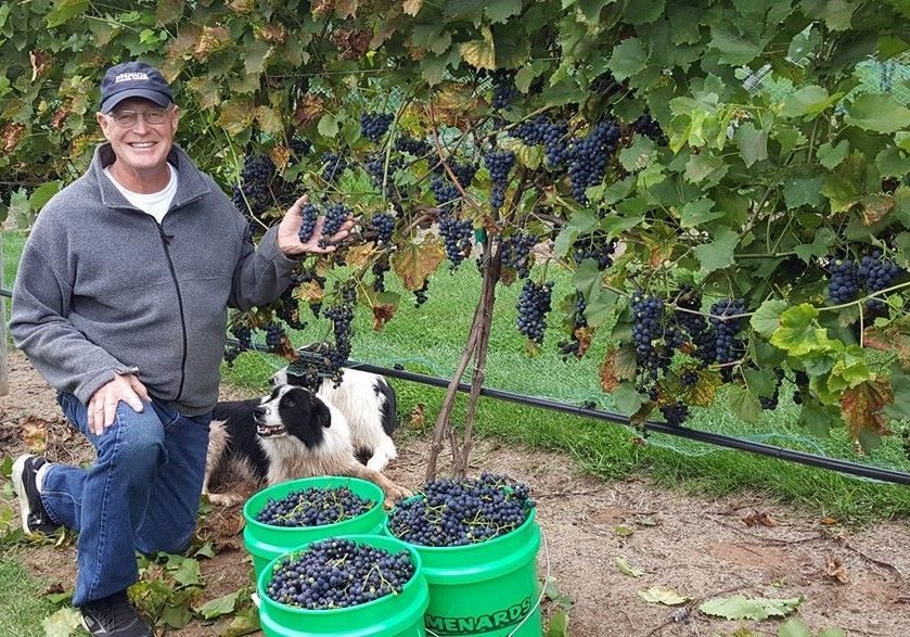
[[[163,109],[150,100],[130,98],[97,117],[123,168],[142,171],[167,162],[177,132],[177,106]]]

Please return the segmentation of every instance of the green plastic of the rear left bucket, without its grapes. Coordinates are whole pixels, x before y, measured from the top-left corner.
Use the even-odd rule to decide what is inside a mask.
[[[334,524],[322,524],[320,526],[272,526],[262,524],[256,520],[256,515],[269,501],[269,498],[281,499],[292,491],[306,488],[335,488],[346,486],[362,498],[372,500],[375,505],[366,513],[361,513],[350,520],[335,522]],[[383,491],[366,480],[359,477],[325,476],[304,477],[282,482],[264,488],[254,494],[243,506],[243,518],[246,524],[243,527],[243,546],[253,557],[253,569],[256,577],[262,572],[270,561],[282,553],[286,553],[300,545],[325,539],[336,535],[351,533],[380,534],[385,522],[385,509],[383,502],[385,495]]]

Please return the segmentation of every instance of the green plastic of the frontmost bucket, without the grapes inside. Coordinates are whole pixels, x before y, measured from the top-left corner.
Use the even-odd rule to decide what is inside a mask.
[[[398,595],[343,609],[308,610],[279,603],[266,595],[271,574],[281,559],[275,558],[256,582],[262,632],[268,637],[424,637],[423,617],[428,593],[418,551],[409,544],[384,535],[344,535],[338,539],[350,539],[389,552],[406,550],[414,564],[414,575]],[[305,548],[302,546],[299,550]]]

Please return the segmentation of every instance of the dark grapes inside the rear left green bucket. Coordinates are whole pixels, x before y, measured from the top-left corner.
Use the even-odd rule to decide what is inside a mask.
[[[283,498],[269,498],[256,521],[271,526],[321,526],[357,518],[375,505],[346,486],[302,488]]]

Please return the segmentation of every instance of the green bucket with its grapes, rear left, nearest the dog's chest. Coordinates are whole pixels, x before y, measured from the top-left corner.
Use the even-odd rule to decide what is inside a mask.
[[[243,506],[243,546],[256,576],[271,560],[300,545],[336,535],[380,534],[382,489],[358,477],[304,477],[254,494]]]

